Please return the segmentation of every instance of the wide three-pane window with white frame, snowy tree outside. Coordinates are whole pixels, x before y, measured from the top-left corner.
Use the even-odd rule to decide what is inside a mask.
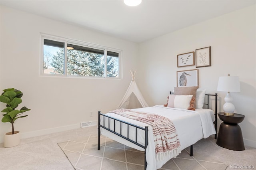
[[[43,74],[120,78],[120,50],[42,36]]]

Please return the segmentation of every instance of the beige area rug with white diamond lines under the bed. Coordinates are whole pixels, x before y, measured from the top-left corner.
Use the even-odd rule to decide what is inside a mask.
[[[75,170],[144,170],[144,152],[104,136],[100,140],[100,150],[97,150],[96,136],[84,136],[58,145]],[[182,150],[160,170],[225,170],[228,165],[210,155],[216,149],[211,140],[214,139],[202,139],[194,144],[194,156],[189,155],[190,147]]]

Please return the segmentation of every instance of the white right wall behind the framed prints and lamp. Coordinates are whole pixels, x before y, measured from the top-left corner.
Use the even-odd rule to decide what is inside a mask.
[[[141,43],[137,84],[143,87],[149,105],[166,103],[168,92],[176,87],[176,71],[196,69],[178,68],[177,54],[208,46],[212,49],[212,66],[198,68],[200,88],[218,93],[221,112],[226,92],[216,91],[218,77],[240,77],[241,92],[231,95],[236,113],[245,115],[240,123],[244,142],[256,147],[255,5]]]

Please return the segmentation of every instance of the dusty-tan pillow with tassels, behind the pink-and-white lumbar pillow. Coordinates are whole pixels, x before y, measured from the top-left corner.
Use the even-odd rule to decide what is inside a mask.
[[[195,110],[196,108],[196,90],[198,86],[190,86],[190,87],[174,87],[174,95],[193,95],[193,99],[191,101],[191,109]]]

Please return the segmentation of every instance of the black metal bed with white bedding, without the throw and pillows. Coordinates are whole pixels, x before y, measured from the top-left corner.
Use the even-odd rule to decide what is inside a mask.
[[[198,140],[212,134],[215,134],[216,139],[217,93],[204,95],[206,100],[203,101],[203,105],[206,106],[206,109],[193,111],[156,105],[132,109],[132,111],[154,113],[171,119],[178,134],[180,150],[190,146],[190,156],[192,156],[193,144]],[[209,100],[214,103],[214,111],[209,109]],[[100,150],[100,134],[126,146],[144,151],[145,170],[161,168],[168,160],[175,157],[172,154],[166,154],[161,159],[156,157],[152,126],[115,113],[102,114],[100,111],[98,112],[98,150]]]

